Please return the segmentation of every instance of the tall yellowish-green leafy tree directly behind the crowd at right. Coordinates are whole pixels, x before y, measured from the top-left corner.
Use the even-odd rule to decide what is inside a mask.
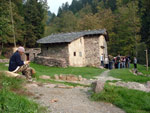
[[[138,1],[129,2],[126,5],[121,6],[119,1],[119,7],[116,13],[116,23],[114,27],[115,43],[112,46],[116,46],[118,53],[122,55],[135,55],[137,43],[140,40],[140,18],[138,13]]]

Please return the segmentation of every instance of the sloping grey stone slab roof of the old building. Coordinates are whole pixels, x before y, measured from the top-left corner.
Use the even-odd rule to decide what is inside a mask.
[[[50,36],[39,39],[37,43],[40,44],[48,44],[48,43],[69,43],[80,37],[89,36],[89,35],[104,35],[106,40],[108,41],[108,33],[105,29],[103,30],[88,30],[81,32],[70,32],[70,33],[59,33],[52,34]]]

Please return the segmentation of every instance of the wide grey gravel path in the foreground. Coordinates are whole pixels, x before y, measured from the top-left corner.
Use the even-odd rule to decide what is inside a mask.
[[[105,71],[103,74],[107,75],[108,72]],[[55,86],[54,84],[38,86],[32,83],[28,84],[27,88],[35,94],[33,97],[35,101],[46,106],[49,113],[125,113],[110,103],[90,101],[89,88],[66,89]]]

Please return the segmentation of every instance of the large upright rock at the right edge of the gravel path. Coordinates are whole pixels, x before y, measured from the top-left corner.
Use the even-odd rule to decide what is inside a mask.
[[[95,93],[99,93],[104,89],[104,84],[105,84],[105,82],[95,81],[95,82],[92,83],[92,90]]]

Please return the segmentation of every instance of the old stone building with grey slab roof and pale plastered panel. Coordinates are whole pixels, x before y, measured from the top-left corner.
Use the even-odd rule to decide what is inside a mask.
[[[35,62],[48,66],[99,67],[100,55],[107,57],[108,40],[105,29],[52,34],[37,41],[41,53]]]

